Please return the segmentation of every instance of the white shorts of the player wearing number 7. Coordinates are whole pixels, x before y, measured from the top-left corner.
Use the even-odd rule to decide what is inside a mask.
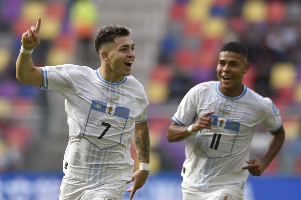
[[[121,200],[127,181],[92,183],[63,177],[60,200]]]

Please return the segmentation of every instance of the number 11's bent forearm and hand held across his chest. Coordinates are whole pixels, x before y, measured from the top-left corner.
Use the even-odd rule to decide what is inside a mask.
[[[191,131],[198,132],[203,128],[212,129],[211,128],[211,120],[212,117],[208,117],[209,115],[213,114],[214,111],[210,111],[202,115],[191,127]],[[166,138],[169,142],[179,142],[186,139],[188,136],[191,136],[191,133],[188,132],[189,126],[181,126],[177,125],[175,122],[168,127]]]

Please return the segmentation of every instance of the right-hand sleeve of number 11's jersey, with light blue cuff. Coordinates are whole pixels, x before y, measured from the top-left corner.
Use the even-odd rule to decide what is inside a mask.
[[[269,98],[264,98],[264,102],[264,118],[260,124],[270,132],[277,131],[282,125],[279,110]]]

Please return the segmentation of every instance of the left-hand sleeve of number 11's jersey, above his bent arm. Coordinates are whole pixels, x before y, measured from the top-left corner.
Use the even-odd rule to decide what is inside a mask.
[[[193,120],[197,114],[196,111],[196,91],[195,87],[193,87],[183,97],[180,105],[178,106],[177,112],[172,117],[172,121],[174,121],[177,125],[191,125],[193,124]]]

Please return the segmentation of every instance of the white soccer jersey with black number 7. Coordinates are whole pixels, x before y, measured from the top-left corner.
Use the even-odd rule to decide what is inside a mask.
[[[100,69],[72,64],[42,67],[44,90],[65,98],[69,142],[63,172],[86,182],[131,180],[130,140],[146,120],[148,99],[133,76],[103,79]]]

